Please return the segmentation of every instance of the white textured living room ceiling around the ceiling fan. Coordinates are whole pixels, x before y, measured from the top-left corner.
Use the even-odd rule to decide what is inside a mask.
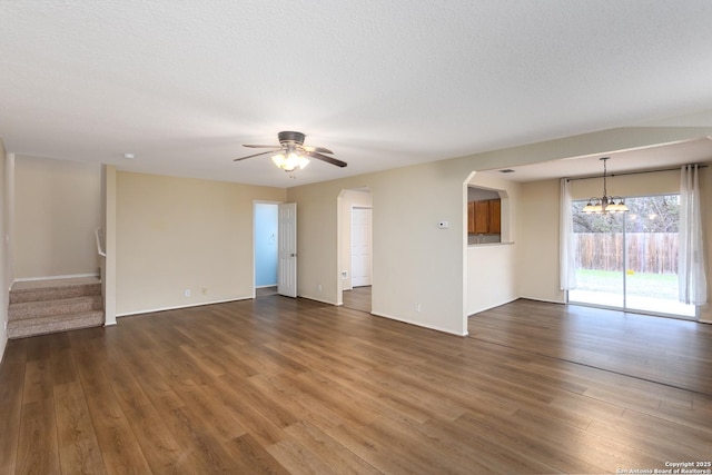
[[[295,186],[711,110],[711,20],[709,0],[7,0],[0,136]],[[233,162],[280,130],[348,167]]]

